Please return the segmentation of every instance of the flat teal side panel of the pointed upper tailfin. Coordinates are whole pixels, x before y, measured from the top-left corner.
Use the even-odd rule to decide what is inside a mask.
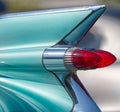
[[[87,10],[3,18],[0,48],[55,45],[90,13]]]

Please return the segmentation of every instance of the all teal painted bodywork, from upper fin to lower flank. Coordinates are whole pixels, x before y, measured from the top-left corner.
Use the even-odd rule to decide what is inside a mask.
[[[44,68],[42,55],[91,13],[86,9],[0,19],[0,112],[72,111],[71,97]]]

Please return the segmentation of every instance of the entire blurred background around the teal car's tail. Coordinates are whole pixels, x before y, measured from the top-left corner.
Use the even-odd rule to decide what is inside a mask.
[[[79,46],[107,50],[117,61],[103,69],[78,71],[78,75],[103,112],[120,112],[120,0],[0,0],[0,14],[99,4],[106,4],[107,10]]]

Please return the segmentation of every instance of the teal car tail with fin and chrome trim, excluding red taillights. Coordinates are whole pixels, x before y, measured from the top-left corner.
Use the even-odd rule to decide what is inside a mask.
[[[78,46],[104,10],[90,6],[1,15],[0,112],[100,112],[72,75],[67,78],[71,71],[64,62],[48,63],[44,53]],[[77,101],[66,78],[71,90],[79,91]]]

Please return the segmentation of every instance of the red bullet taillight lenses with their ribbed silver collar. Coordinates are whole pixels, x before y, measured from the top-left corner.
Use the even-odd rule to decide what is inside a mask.
[[[65,64],[69,69],[95,69],[111,65],[116,57],[103,50],[82,50],[79,48],[68,50],[65,55]]]

